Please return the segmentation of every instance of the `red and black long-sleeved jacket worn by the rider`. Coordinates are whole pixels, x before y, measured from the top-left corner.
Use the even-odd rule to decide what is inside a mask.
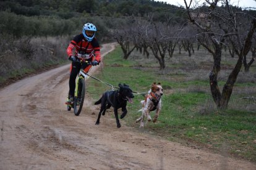
[[[67,55],[70,57],[73,55],[73,49],[75,48],[75,56],[77,56],[78,52],[84,51],[86,54],[95,54],[95,60],[100,62],[100,45],[96,38],[93,38],[92,41],[86,41],[83,37],[83,34],[78,34],[77,36],[70,41],[69,46],[67,47]],[[89,59],[94,60],[94,59]]]

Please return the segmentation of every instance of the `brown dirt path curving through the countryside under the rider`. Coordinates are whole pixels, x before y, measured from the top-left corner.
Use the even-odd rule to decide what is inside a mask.
[[[102,48],[103,55],[114,44]],[[93,71],[92,71],[93,72]],[[91,72],[91,73],[92,73]],[[69,65],[0,90],[0,169],[256,169],[256,165],[168,142],[126,127],[85,102],[67,111]]]

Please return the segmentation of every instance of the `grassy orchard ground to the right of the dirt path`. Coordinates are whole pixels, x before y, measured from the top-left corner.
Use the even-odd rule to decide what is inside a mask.
[[[174,53],[172,58],[166,57],[166,69],[160,71],[153,56],[146,59],[139,52],[134,52],[128,60],[123,60],[122,51],[117,47],[106,55],[104,65],[95,76],[113,86],[129,84],[135,92],[147,92],[153,82],[163,85],[160,117],[156,123],[145,124],[140,131],[256,162],[256,102],[241,99],[256,97],[255,63],[250,73],[242,70],[239,74],[226,110],[217,110],[210,94],[208,73],[212,63],[211,55],[202,49],[195,51],[192,57],[186,52]],[[223,52],[218,78],[220,89],[234,63],[236,58],[232,59]],[[94,79],[87,83],[88,93],[94,101],[103,92],[111,90],[111,87]],[[137,111],[141,108],[140,100],[143,96],[135,94],[134,103],[128,104],[128,115],[124,118],[127,126],[138,130],[139,123],[135,123],[135,119],[141,115]],[[113,114],[113,110],[107,114]],[[151,117],[154,114],[152,112]]]

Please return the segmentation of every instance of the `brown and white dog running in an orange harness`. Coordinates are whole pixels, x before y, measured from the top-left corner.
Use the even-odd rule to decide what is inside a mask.
[[[163,87],[161,83],[153,83],[151,85],[150,91],[145,96],[145,100],[140,101],[142,103],[142,116],[136,120],[136,123],[140,121],[140,127],[144,126],[144,117],[147,117],[148,121],[151,121],[150,111],[156,110],[155,116],[153,118],[153,122],[157,121],[159,113],[161,111],[161,96],[163,95]]]

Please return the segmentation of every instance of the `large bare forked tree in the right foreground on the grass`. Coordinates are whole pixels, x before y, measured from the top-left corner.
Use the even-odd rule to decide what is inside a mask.
[[[213,68],[209,74],[213,100],[218,108],[227,108],[243,59],[251,48],[256,18],[235,11],[229,6],[228,0],[205,0],[205,4],[198,7],[198,10],[191,7],[192,0],[189,3],[186,0],[184,2],[189,21],[198,28],[198,41],[213,55]],[[217,6],[218,2],[222,3],[221,7]],[[202,17],[195,17],[194,14],[200,14]],[[244,22],[246,20],[250,21],[249,25]],[[221,92],[217,78],[221,70],[221,55],[225,42],[232,45],[238,59]]]

